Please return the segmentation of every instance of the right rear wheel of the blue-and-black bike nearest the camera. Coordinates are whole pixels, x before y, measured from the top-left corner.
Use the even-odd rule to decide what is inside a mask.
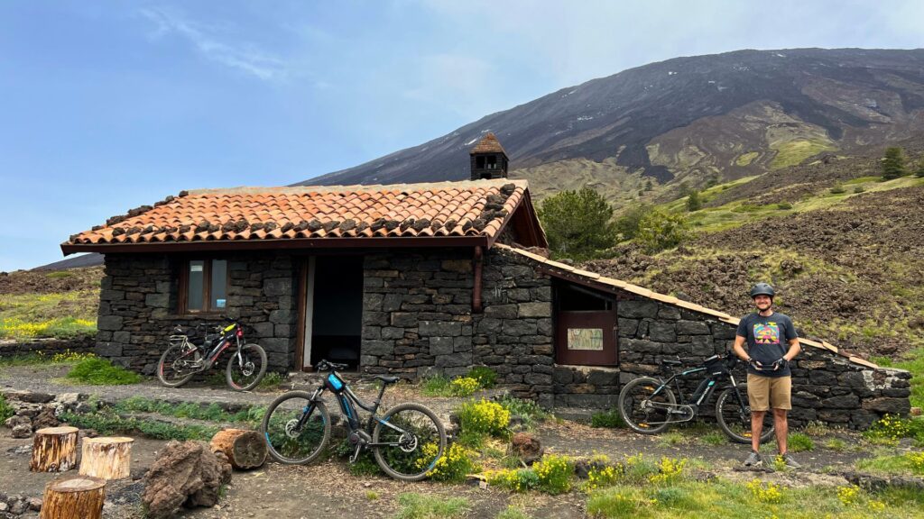
[[[385,474],[401,481],[419,481],[436,465],[446,449],[443,422],[420,404],[398,404],[375,424],[372,443],[375,461]]]

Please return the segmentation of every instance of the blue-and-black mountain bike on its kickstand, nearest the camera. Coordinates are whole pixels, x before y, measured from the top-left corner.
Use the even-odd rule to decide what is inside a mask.
[[[353,446],[349,458],[356,463],[363,449],[371,449],[376,463],[385,474],[402,481],[419,481],[436,466],[446,448],[443,422],[421,404],[397,404],[382,416],[377,414],[385,388],[397,377],[375,376],[382,381],[379,396],[371,404],[359,399],[337,369],[346,364],[322,360],[318,371],[329,371],[314,392],[293,391],[283,394],[266,409],[261,431],[270,455],[286,465],[308,464],[324,450],[331,438],[331,418],[322,401],[325,391],[334,393],[341,416],[346,418],[347,440]],[[370,413],[361,425],[356,406]]]

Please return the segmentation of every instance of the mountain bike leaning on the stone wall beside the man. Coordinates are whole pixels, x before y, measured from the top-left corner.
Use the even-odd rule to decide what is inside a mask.
[[[715,402],[715,419],[719,428],[728,438],[737,443],[750,443],[751,423],[750,405],[748,404],[748,386],[738,383],[732,375],[737,363],[740,362],[732,352],[725,355],[715,355],[705,359],[699,368],[692,368],[677,373],[675,366],[684,364],[680,358],[662,359],[661,369],[671,376],[667,380],[655,377],[641,377],[630,380],[619,392],[619,414],[629,428],[642,434],[658,434],[668,425],[688,422],[699,415],[705,408],[719,383],[728,382],[723,392]],[[680,389],[680,380],[705,374],[706,378],[699,382],[699,386],[689,399],[684,397]],[[676,388],[680,396],[680,404],[671,385]],[[760,441],[770,441],[773,436],[772,413],[764,416],[763,433]]]

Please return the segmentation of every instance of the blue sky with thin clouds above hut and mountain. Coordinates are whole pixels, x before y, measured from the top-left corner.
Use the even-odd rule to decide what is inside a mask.
[[[0,271],[182,189],[285,185],[679,55],[922,46],[924,3],[8,0]]]

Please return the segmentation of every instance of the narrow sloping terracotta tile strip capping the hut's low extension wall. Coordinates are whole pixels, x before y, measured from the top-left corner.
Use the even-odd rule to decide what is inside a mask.
[[[649,289],[642,288],[641,286],[638,286],[636,284],[630,284],[630,283],[626,283],[625,281],[620,281],[618,279],[608,278],[596,272],[582,271],[580,269],[577,269],[576,267],[572,267],[571,265],[567,265],[559,261],[553,261],[552,259],[543,258],[542,256],[538,254],[533,254],[532,252],[529,252],[529,250],[523,250],[522,248],[517,248],[517,247],[509,247],[503,244],[495,244],[494,247],[499,247],[504,250],[509,250],[515,254],[519,254],[520,256],[525,256],[529,259],[542,263],[543,265],[550,267],[552,272],[555,272],[555,271],[565,272],[570,275],[583,277],[587,279],[588,281],[593,282],[594,284],[602,285],[601,286],[602,288],[607,287],[607,286],[620,288],[622,290],[625,290],[626,292],[635,294],[637,296],[647,297],[649,299],[654,299],[655,301],[660,301],[667,305],[672,305],[678,308],[685,308],[690,311],[698,312],[700,314],[705,314],[710,317],[714,317],[718,320],[721,320],[723,322],[727,322],[729,324],[737,325],[738,321],[740,321],[738,318],[732,317],[726,314],[725,312],[713,310],[712,308],[706,308],[701,305],[697,305],[696,303],[690,303],[689,301],[677,299],[675,296],[665,296],[663,294],[658,294],[657,292],[652,292]],[[879,368],[878,365],[872,362],[869,362],[869,360],[860,358],[858,356],[850,355],[844,350],[838,348],[837,346],[828,343],[827,341],[821,341],[821,342],[813,341],[811,339],[805,339],[805,338],[800,337],[799,344],[811,346],[815,348],[821,348],[823,350],[828,350],[829,352],[833,354],[845,357],[847,360],[849,360],[850,362],[853,362],[854,364],[858,364],[866,368],[877,368],[877,369]]]

